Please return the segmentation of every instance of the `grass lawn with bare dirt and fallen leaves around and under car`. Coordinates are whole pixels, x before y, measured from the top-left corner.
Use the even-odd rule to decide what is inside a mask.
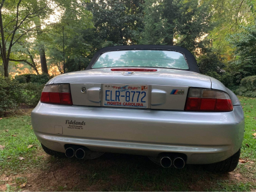
[[[246,121],[244,163],[225,174],[209,173],[198,165],[164,169],[147,157],[125,154],[104,154],[89,161],[55,159],[36,140],[29,113],[2,118],[0,191],[255,191],[256,99],[239,99]]]

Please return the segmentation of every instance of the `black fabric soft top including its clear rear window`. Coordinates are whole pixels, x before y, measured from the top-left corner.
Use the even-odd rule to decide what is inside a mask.
[[[86,70],[106,67],[161,67],[199,73],[191,52],[182,47],[169,45],[105,47],[96,52]]]

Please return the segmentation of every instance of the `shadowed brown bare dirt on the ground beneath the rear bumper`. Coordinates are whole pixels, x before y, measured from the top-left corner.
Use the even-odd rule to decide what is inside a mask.
[[[45,161],[45,160],[44,160]],[[42,173],[31,177],[29,190],[54,191],[213,191],[230,173],[209,173],[199,165],[162,168],[145,156],[106,153],[98,159],[47,156]],[[236,188],[239,190],[239,188]]]

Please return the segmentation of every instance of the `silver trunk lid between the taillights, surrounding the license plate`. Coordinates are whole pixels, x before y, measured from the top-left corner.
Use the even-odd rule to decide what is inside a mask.
[[[113,89],[109,88],[106,93],[106,86],[140,87],[140,91],[143,91],[141,86],[147,86],[146,100],[141,100],[142,97],[137,99],[146,101],[146,108],[169,110],[184,110],[189,87],[211,88],[211,79],[195,72],[166,68],[150,69],[156,69],[156,71],[127,72],[98,68],[72,72],[56,77],[54,84],[70,83],[73,104],[81,106],[106,106],[106,100],[110,102],[115,100],[116,95],[109,96]],[[121,107],[138,108],[138,106],[122,105]]]

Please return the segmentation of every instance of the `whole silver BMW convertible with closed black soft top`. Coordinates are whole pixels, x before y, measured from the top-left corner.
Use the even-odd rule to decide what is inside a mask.
[[[164,168],[232,172],[244,134],[236,95],[200,74],[191,52],[167,45],[100,49],[86,70],[51,79],[31,116],[47,154],[138,154]]]

